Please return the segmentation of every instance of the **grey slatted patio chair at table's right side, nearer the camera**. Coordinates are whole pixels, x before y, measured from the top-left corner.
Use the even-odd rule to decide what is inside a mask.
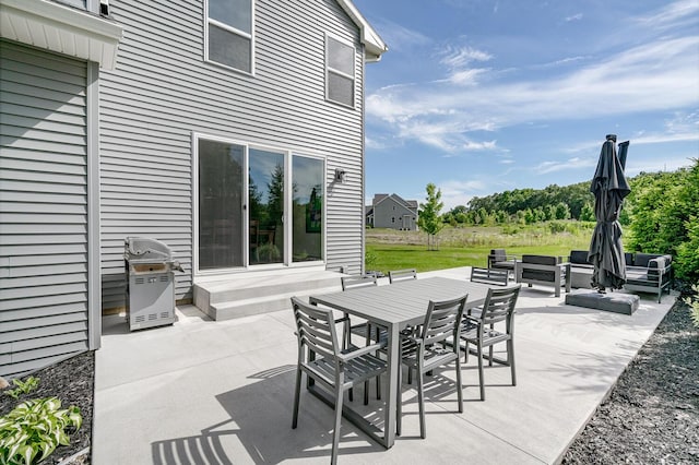
[[[401,336],[401,360],[410,370],[417,372],[417,403],[419,407],[419,436],[425,439],[425,373],[452,361],[457,365],[457,397],[459,413],[463,412],[463,394],[461,388],[460,345],[446,346],[447,339],[459,341],[461,320],[467,295],[443,300],[430,301],[425,315],[425,323],[419,326],[419,334]],[[439,344],[441,343],[441,344]],[[401,370],[399,370],[399,395],[401,393]],[[402,400],[398,401],[396,432],[401,431]]]

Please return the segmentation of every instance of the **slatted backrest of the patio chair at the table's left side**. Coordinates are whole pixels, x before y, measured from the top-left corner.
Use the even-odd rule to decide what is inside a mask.
[[[301,301],[298,297],[292,297],[292,307],[296,321],[299,358],[303,347],[306,346],[316,354],[335,359],[340,354],[340,345],[332,310],[319,309]]]

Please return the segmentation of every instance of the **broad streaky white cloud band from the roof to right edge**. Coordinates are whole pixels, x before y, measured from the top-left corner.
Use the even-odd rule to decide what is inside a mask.
[[[476,142],[469,136],[473,131],[687,108],[699,104],[697,47],[697,35],[667,38],[565,75],[509,83],[482,79],[467,88],[446,81],[393,87],[367,98],[367,115],[394,126],[403,138],[454,151],[467,150],[464,141]],[[453,57],[451,62],[465,62],[469,53]],[[428,135],[420,128],[429,128]]]

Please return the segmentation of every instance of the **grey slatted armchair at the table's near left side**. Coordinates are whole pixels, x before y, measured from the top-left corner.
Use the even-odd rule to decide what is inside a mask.
[[[368,384],[371,378],[386,372],[386,361],[372,353],[378,344],[367,347],[350,347],[342,350],[335,331],[332,310],[319,309],[292,297],[296,334],[298,338],[298,368],[294,394],[294,419],[292,428],[298,426],[298,406],[301,391],[301,373],[312,378],[335,397],[335,422],[332,436],[331,464],[337,463],[340,424],[344,392],[357,384]],[[311,354],[313,356],[311,356]]]

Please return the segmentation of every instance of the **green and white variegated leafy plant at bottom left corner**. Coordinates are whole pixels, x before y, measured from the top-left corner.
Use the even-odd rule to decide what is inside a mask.
[[[58,397],[26,401],[0,417],[0,464],[32,464],[47,458],[59,445],[70,445],[66,429],[83,422],[80,408],[61,409]],[[40,453],[40,455],[39,455]],[[38,458],[36,462],[35,458]]]

